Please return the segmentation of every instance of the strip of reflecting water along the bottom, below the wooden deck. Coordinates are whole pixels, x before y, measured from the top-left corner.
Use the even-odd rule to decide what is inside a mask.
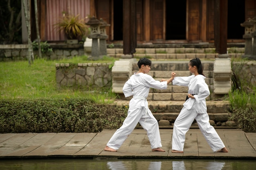
[[[0,170],[256,170],[256,160],[7,159],[0,160]]]

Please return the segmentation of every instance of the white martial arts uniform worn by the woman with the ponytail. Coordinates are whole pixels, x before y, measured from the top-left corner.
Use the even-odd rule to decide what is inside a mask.
[[[183,104],[179,116],[173,126],[172,149],[183,151],[185,135],[194,119],[198,123],[200,131],[204,135],[213,152],[225,147],[216,130],[209,123],[205,98],[210,95],[209,87],[204,81],[205,76],[199,74],[188,77],[175,77],[173,85],[188,86],[189,98]]]

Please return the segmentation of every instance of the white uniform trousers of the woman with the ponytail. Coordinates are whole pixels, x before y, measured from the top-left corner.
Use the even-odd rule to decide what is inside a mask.
[[[200,131],[204,135],[204,138],[210,145],[213,152],[217,152],[225,147],[218,133],[209,123],[208,113],[197,113],[196,105],[193,105],[190,110],[183,107],[174,122],[172,139],[173,150],[183,151],[186,132],[189,131],[194,119],[198,123]]]

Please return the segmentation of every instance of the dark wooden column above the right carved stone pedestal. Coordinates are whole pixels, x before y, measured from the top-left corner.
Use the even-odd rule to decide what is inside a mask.
[[[219,54],[227,54],[227,1],[215,0],[214,45]]]

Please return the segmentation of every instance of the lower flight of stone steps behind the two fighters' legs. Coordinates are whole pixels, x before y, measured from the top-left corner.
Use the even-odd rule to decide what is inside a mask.
[[[117,105],[129,105],[130,100],[115,100]],[[159,128],[173,128],[180,110],[183,107],[184,100],[177,101],[160,101],[160,100],[148,100],[148,107],[153,113],[154,117],[159,122]],[[213,126],[217,126],[219,129],[235,129],[236,126],[229,124],[229,101],[226,100],[207,100],[207,113],[210,118],[210,122]],[[192,128],[198,128],[196,122],[194,122]],[[137,128],[140,128],[139,126]]]

